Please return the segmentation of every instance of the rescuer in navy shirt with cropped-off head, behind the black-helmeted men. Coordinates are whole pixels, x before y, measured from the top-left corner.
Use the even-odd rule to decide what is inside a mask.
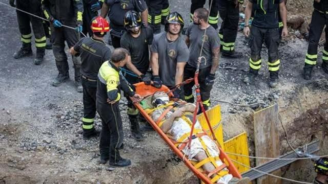
[[[124,16],[129,10],[141,12],[141,19],[148,26],[148,10],[144,0],[106,0],[101,8],[100,15],[106,18],[109,17],[111,27],[111,44],[114,48],[120,47],[120,39],[125,32]]]

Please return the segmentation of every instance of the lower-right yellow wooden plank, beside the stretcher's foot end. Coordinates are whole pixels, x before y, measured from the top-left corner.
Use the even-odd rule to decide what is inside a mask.
[[[247,133],[243,132],[232,139],[223,143],[224,151],[230,153],[236,153],[240,155],[249,155]],[[228,153],[227,153],[228,154]],[[248,167],[251,166],[250,158],[245,156],[236,156],[228,154],[229,158],[234,159]],[[240,173],[250,170],[248,167],[242,166],[240,164],[234,163],[236,168]]]

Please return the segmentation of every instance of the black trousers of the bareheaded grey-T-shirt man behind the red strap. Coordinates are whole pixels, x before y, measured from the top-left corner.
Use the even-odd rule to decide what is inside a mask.
[[[199,75],[198,75],[198,82],[200,86],[200,97],[203,104],[207,107],[210,107],[211,101],[211,90],[213,85],[206,85],[205,80],[206,77],[210,74],[211,66],[199,69]],[[196,68],[191,66],[190,64],[186,64],[185,71],[183,73],[184,80],[194,78],[195,77]],[[189,84],[185,84],[183,86],[183,90],[185,91],[185,100],[189,103],[194,103],[194,95],[192,87],[195,85],[195,82],[192,81]]]

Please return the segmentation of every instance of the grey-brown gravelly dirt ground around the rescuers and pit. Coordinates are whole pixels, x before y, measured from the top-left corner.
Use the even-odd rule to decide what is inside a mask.
[[[8,3],[5,0],[0,2]],[[312,1],[290,0],[288,3],[291,13],[301,14],[310,21]],[[188,22],[190,1],[170,1],[170,4],[171,10],[180,12]],[[155,132],[144,132],[146,139],[140,143],[131,139],[125,100],[120,102],[125,130],[125,147],[121,153],[132,160],[132,166],[111,168],[98,165],[99,140],[84,141],[79,133],[83,104],[82,95],[76,92],[72,80],[71,59],[71,80],[59,87],[51,86],[57,75],[52,51],[46,51],[45,62],[38,66],[33,64],[33,57],[13,59],[13,53],[20,46],[16,14],[13,9],[0,5],[0,17],[1,184],[196,183],[192,173]],[[294,30],[290,31],[294,33]],[[250,49],[247,39],[238,33],[236,50],[244,57],[220,60],[212,99],[237,104],[263,101],[264,104],[250,108],[220,103],[225,140],[247,131],[250,153],[254,154],[252,113],[276,102],[281,122],[289,132],[294,147],[317,138],[322,140],[317,154],[328,153],[328,75],[321,70],[321,59],[318,59],[312,80],[302,78],[307,46],[308,42],[293,34],[282,41],[279,50],[280,83],[276,89],[271,89],[268,87],[269,73],[265,62],[255,84],[243,82],[248,71]],[[266,49],[263,49],[262,57],[263,61],[268,58]],[[213,100],[212,104],[218,102]],[[100,128],[98,118],[95,123],[96,128]],[[290,151],[282,127],[280,140],[280,153]],[[283,171],[285,177],[301,181],[311,182],[314,176],[310,161],[294,163]]]

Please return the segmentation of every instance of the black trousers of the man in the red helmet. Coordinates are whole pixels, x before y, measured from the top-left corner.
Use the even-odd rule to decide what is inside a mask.
[[[92,130],[94,117],[96,116],[96,92],[97,81],[88,81],[85,78],[81,78],[83,86],[83,130]]]

